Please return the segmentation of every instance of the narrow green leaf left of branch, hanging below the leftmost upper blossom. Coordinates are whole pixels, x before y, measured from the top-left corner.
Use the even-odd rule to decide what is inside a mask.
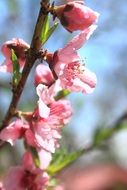
[[[21,73],[20,73],[20,65],[19,65],[19,61],[18,58],[14,52],[14,50],[11,50],[12,52],[12,63],[13,63],[13,78],[12,78],[12,83],[13,86],[16,87],[21,79]]]

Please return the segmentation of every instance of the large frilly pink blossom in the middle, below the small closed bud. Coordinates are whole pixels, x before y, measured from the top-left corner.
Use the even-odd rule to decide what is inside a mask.
[[[38,109],[33,114],[36,119],[32,122],[32,131],[34,132],[31,131],[31,133],[34,134],[39,155],[43,155],[49,162],[51,161],[51,153],[54,153],[55,149],[59,147],[58,140],[61,138],[61,126],[67,124],[72,115],[72,108],[68,100],[55,101],[55,87],[55,84],[53,87],[50,87],[51,89],[42,84],[37,87],[41,104],[39,101]],[[41,111],[39,109],[41,109]],[[32,134],[30,136],[32,136]],[[29,140],[29,138],[27,138],[27,140]],[[47,164],[47,162],[42,164],[43,168],[45,164]]]

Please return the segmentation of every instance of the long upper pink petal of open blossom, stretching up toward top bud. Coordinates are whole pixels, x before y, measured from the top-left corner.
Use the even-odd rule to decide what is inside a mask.
[[[62,71],[66,64],[80,61],[80,56],[78,55],[77,50],[83,46],[83,44],[89,39],[96,28],[96,25],[92,25],[89,28],[83,30],[80,34],[75,36],[63,49],[60,49],[54,54],[54,70],[58,76],[63,74]]]

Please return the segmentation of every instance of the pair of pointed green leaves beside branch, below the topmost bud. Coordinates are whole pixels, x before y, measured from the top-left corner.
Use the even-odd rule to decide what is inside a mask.
[[[56,30],[59,23],[55,23],[53,26],[49,27],[50,23],[50,17],[49,15],[46,16],[43,24],[43,28],[41,31],[40,40],[42,44],[45,44],[47,40],[50,38],[50,36],[53,34],[53,32]]]

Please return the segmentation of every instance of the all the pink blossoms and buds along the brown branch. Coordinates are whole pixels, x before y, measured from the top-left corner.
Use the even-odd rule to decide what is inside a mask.
[[[46,189],[49,176],[45,169],[52,160],[52,154],[60,146],[62,127],[72,116],[70,101],[64,97],[57,98],[58,94],[64,89],[69,92],[91,93],[97,83],[96,75],[82,64],[77,51],[96,29],[94,23],[98,13],[77,1],[54,7],[53,14],[68,31],[81,31],[65,47],[54,53],[46,52],[47,65],[41,63],[35,71],[34,83],[38,102],[34,111],[17,111],[17,118],[0,132],[0,140],[11,145],[14,145],[17,139],[23,139],[27,147],[36,150],[40,160],[40,166],[37,168],[31,153],[26,152],[22,164],[9,170],[0,187],[3,190]],[[12,39],[3,44],[1,51],[5,61],[0,66],[0,71],[13,74],[12,50],[22,69],[29,48],[21,39]]]

